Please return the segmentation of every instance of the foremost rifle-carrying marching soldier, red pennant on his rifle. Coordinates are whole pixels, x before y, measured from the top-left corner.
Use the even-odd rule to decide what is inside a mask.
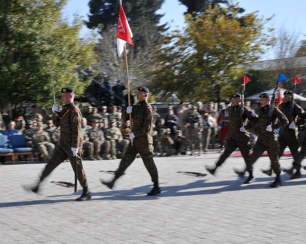
[[[225,150],[214,168],[205,167],[210,174],[215,174],[217,167],[220,167],[237,148],[241,151],[245,162],[251,155],[252,146],[248,130],[258,122],[258,116],[250,109],[244,107],[241,118],[241,94],[234,93],[231,99],[232,105],[226,108],[226,112],[229,113],[230,117],[230,131],[224,146]],[[248,124],[247,121],[249,121]]]

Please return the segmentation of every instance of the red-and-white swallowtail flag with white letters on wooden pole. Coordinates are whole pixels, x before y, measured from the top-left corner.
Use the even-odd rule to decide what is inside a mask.
[[[125,43],[134,45],[132,42],[132,31],[129,27],[128,20],[126,19],[125,13],[123,11],[122,5],[120,5],[119,21],[118,21],[118,34],[117,34],[117,49],[118,57],[121,56],[123,52],[123,47]]]

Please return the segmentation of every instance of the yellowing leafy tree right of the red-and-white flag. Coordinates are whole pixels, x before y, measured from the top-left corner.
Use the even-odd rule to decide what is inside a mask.
[[[216,5],[199,17],[186,15],[184,33],[174,33],[175,44],[159,50],[154,61],[158,65],[149,73],[150,88],[161,97],[177,91],[180,99],[189,101],[210,101],[217,84],[222,99],[241,90],[244,64],[257,60],[262,47],[273,42],[263,31],[269,19],[247,14],[241,25],[237,9]]]

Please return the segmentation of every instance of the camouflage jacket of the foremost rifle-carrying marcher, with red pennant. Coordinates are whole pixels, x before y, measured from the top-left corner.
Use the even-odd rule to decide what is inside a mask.
[[[257,114],[244,107],[242,115],[243,125],[241,125],[241,105],[235,107],[229,106],[227,111],[230,116],[230,132],[227,135],[229,138],[241,138],[243,134],[244,136],[248,136],[247,130],[251,129],[258,122]],[[249,123],[247,124],[248,120]],[[244,126],[246,131],[240,131],[242,126]]]

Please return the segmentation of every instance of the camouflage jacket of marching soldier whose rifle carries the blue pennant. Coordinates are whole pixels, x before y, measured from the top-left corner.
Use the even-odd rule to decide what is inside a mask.
[[[272,130],[267,131],[267,126],[270,122],[270,115],[269,115],[270,105],[262,107],[259,109],[258,115],[258,140],[274,140],[277,141],[277,129],[282,128],[288,124],[288,120],[285,114],[282,113],[277,107],[273,109],[273,116],[272,116]],[[279,123],[277,120],[279,119]]]

